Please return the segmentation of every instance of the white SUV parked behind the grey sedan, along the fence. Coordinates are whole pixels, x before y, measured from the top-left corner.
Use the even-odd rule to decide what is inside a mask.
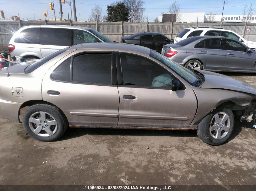
[[[221,27],[191,27],[182,30],[175,38],[174,43],[184,40],[188,37],[193,36],[218,36],[218,37],[229,37],[234,40],[238,40],[244,43],[246,46],[256,49],[256,42],[245,40],[239,34],[232,30],[226,30]]]

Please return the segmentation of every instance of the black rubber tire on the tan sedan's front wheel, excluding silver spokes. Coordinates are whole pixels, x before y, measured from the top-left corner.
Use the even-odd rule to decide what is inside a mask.
[[[226,114],[228,114],[229,116],[229,121],[228,119],[224,122],[224,123],[228,123],[229,122],[229,131],[228,133],[226,133],[226,131],[223,131],[221,130],[221,134],[224,136],[224,133],[226,134],[223,138],[220,138],[220,139],[217,139],[217,138],[214,138],[213,136],[213,133],[210,132],[210,127],[212,126],[212,124],[210,123],[213,123],[215,118],[214,116],[219,113],[219,112],[224,112]],[[222,115],[222,114],[220,114]],[[214,118],[214,119],[213,119]],[[213,121],[212,121],[213,120]],[[221,120],[221,119],[220,119]],[[219,124],[219,123],[218,123]],[[217,125],[217,124],[216,124]],[[220,125],[220,124],[219,124]],[[225,125],[225,124],[224,124]],[[218,127],[220,128],[220,127]],[[223,128],[223,127],[221,127]],[[227,108],[219,108],[219,109],[216,109],[214,110],[213,112],[211,112],[210,114],[208,114],[207,116],[204,117],[204,119],[201,120],[201,122],[198,124],[198,129],[197,129],[197,135],[198,137],[205,143],[209,144],[209,145],[214,145],[214,146],[217,146],[217,145],[221,145],[223,144],[224,142],[226,142],[228,140],[228,138],[230,137],[232,131],[233,131],[233,128],[234,128],[234,115],[232,113],[232,111],[230,109],[227,109]],[[213,128],[214,129],[214,128]],[[218,130],[214,130],[213,132],[217,132]],[[216,135],[217,136],[217,133]]]

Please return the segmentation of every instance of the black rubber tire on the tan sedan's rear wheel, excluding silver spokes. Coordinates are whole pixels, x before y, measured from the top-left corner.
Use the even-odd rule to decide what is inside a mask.
[[[44,131],[44,129],[42,129],[42,131],[38,132],[38,134],[36,134],[32,131],[30,126],[32,126],[32,128],[34,128],[34,129],[36,129],[37,124],[35,124],[35,123],[30,124],[29,119],[33,114],[35,114],[37,112],[46,112],[47,114],[50,114],[50,115],[47,115],[48,117],[51,116],[53,119],[55,119],[57,128],[56,128],[56,126],[49,126],[49,128],[51,128],[51,127],[56,128],[56,131],[55,132],[53,131],[54,132],[53,135],[50,135],[50,134],[49,134],[50,136],[38,135],[40,132],[41,132],[41,135],[43,133],[46,133],[46,131]],[[41,117],[39,119],[41,119]],[[46,122],[46,120],[45,120],[45,122]],[[44,124],[47,124],[47,123],[43,122],[42,124],[40,124],[40,126],[44,126]],[[24,127],[25,131],[33,138],[35,138],[39,141],[51,142],[51,141],[55,141],[55,140],[59,139],[65,133],[65,131],[68,128],[68,120],[65,117],[65,115],[62,113],[62,111],[55,106],[48,105],[48,104],[35,104],[35,105],[30,106],[25,111],[25,113],[23,115],[23,127]],[[44,128],[46,128],[46,127],[44,127]]]

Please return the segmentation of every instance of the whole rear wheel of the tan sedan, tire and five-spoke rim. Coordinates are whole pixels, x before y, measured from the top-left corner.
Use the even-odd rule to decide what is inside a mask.
[[[61,110],[48,104],[30,106],[23,115],[25,131],[39,141],[55,141],[68,127],[68,121]]]

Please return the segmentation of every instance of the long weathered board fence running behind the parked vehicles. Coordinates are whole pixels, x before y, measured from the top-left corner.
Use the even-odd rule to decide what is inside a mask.
[[[142,23],[130,23],[130,22],[115,22],[115,23],[104,23],[104,22],[49,22],[49,21],[0,21],[0,34],[3,44],[8,44],[13,33],[15,33],[20,27],[35,25],[35,24],[55,24],[55,25],[72,25],[89,27],[98,30],[112,40],[119,42],[121,36],[130,36],[135,33],[149,31],[163,33],[170,38],[174,38],[184,28],[195,27],[197,23],[154,23],[154,22],[142,22]],[[209,27],[220,27],[221,23],[198,23],[198,26],[209,26]],[[246,40],[256,41],[256,24],[252,23],[223,23],[224,29],[232,30],[241,36],[244,36]],[[173,31],[172,31],[173,28]]]

